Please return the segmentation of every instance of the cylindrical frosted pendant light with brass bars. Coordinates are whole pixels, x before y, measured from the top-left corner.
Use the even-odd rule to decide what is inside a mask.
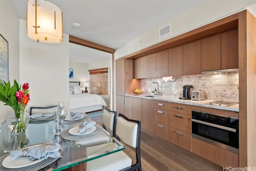
[[[46,0],[28,1],[28,37],[36,42],[60,43],[63,38],[62,12]]]

